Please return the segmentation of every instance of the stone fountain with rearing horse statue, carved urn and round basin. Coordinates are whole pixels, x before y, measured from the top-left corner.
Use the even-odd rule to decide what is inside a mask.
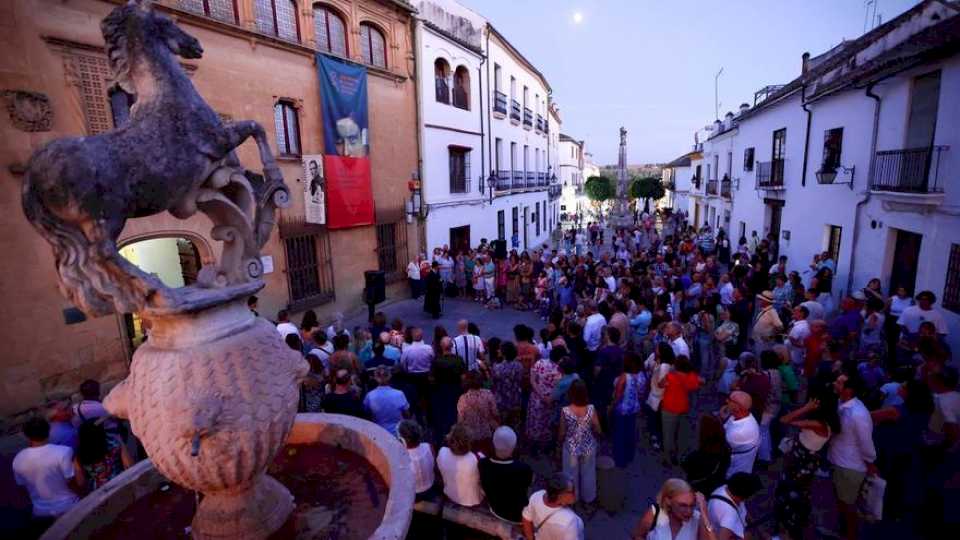
[[[61,290],[74,305],[89,316],[138,313],[152,323],[129,376],[104,400],[112,414],[130,420],[150,456],[138,474],[155,467],[202,493],[195,538],[266,538],[294,508],[288,489],[265,471],[293,427],[299,382],[309,368],[245,299],[264,286],[260,248],[289,191],[263,128],[222,122],[184,73],[175,56],[199,58],[195,38],[146,0],[117,7],[101,29],[116,84],[137,96],[130,120],[37,151],[25,174],[24,213],[52,246]],[[249,138],[262,174],[245,169],[234,153]],[[205,266],[195,285],[168,288],[117,251],[127,219],[165,211],[180,219],[206,215],[211,237],[223,243],[220,261]],[[323,432],[318,422],[306,419],[295,442],[308,442],[305,430]],[[361,441],[355,451],[378,448],[379,454],[360,453],[380,455],[381,475],[406,489],[409,469],[390,447],[398,443],[364,429],[341,431]],[[136,476],[128,472],[89,496],[86,512],[95,514]],[[409,498],[393,508],[401,516],[406,511],[402,532],[384,538],[405,533],[412,492]],[[80,507],[48,536],[81,530],[89,514]]]

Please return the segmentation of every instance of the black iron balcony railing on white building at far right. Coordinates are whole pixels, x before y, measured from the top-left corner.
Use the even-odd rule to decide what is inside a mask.
[[[883,150],[873,158],[870,189],[898,193],[941,193],[940,156],[946,146]]]

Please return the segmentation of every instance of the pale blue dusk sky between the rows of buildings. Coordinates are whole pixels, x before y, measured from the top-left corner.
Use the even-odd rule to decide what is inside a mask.
[[[686,153],[693,133],[800,74],[863,33],[865,0],[459,0],[491,21],[547,77],[562,131],[597,164],[616,163],[627,128],[631,164]],[[917,0],[876,0],[887,21]],[[872,12],[872,8],[871,8]],[[579,20],[579,22],[575,22]]]

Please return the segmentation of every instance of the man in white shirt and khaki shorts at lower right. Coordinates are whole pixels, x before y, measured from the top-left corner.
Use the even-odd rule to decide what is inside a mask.
[[[840,401],[840,432],[830,439],[827,458],[833,464],[833,487],[846,523],[846,537],[857,538],[857,498],[867,475],[877,474],[873,464],[877,450],[873,446],[873,420],[857,395],[863,391],[863,379],[857,373],[843,374],[833,383]]]

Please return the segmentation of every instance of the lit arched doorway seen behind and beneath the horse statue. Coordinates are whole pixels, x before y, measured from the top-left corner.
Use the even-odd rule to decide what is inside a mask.
[[[134,239],[120,247],[120,255],[160,278],[167,287],[195,283],[204,259],[209,257],[208,252],[204,242],[188,235]],[[128,358],[132,358],[133,351],[147,339],[149,325],[135,313],[124,313],[120,318],[124,348]]]

